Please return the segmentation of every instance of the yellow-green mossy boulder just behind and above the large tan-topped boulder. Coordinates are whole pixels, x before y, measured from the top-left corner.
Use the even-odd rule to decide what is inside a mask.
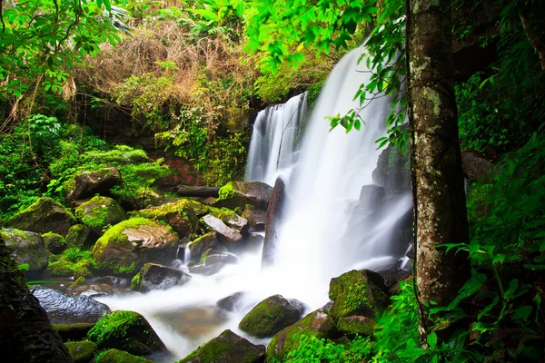
[[[137,211],[135,216],[149,220],[163,221],[178,233],[183,239],[193,233],[199,223],[199,218],[193,211],[192,202],[188,200],[172,201],[158,207]]]

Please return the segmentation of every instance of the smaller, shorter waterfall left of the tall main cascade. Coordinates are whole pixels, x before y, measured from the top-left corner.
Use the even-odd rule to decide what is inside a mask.
[[[306,93],[274,104],[257,114],[246,165],[247,182],[274,185],[296,162],[301,126],[307,116]]]

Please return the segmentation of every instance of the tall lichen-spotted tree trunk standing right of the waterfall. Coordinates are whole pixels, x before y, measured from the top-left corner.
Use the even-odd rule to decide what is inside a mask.
[[[451,1],[407,0],[406,26],[415,289],[425,346],[429,308],[448,305],[470,276],[464,255],[438,247],[469,242],[452,83]]]

